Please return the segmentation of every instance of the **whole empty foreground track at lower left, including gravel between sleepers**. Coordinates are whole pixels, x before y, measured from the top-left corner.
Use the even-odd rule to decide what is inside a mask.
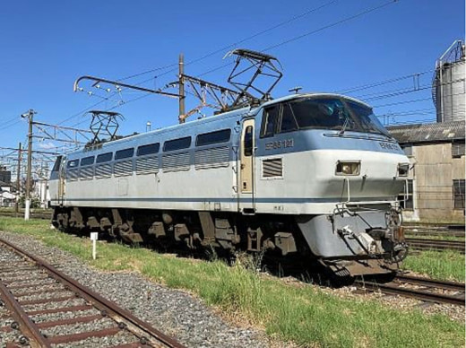
[[[77,343],[119,348],[184,347],[4,239],[0,239],[0,299],[0,335],[16,333],[7,347]]]

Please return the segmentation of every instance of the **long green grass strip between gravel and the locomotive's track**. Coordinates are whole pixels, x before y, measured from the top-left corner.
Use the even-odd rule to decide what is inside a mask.
[[[312,286],[293,286],[221,261],[160,255],[149,249],[99,243],[49,230],[44,221],[0,218],[0,231],[27,234],[64,249],[95,268],[136,270],[168,287],[186,289],[267,334],[306,347],[458,347],[465,328],[444,315],[389,309],[375,300],[341,299]]]

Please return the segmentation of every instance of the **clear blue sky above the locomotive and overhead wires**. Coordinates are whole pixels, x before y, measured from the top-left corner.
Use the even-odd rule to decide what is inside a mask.
[[[237,45],[263,50],[386,3],[390,1],[3,2],[0,146],[15,147],[24,142],[27,125],[19,115],[30,108],[38,111],[38,121],[86,128],[89,122],[82,110],[100,99],[73,92],[73,81],[81,75],[116,80],[176,64],[180,52],[189,62],[325,4],[320,10]],[[303,91],[342,91],[422,72],[426,74],[420,75],[419,84],[428,86],[436,58],[455,39],[464,39],[464,1],[393,2],[267,51],[278,57],[284,72],[273,95],[285,95],[297,85]],[[186,74],[203,74],[229,63],[231,58],[223,60],[229,49],[186,65]],[[227,84],[230,68],[203,78]],[[126,82],[148,80],[142,85],[159,88],[177,79],[176,72],[163,74],[166,71]],[[374,105],[379,115],[398,114],[392,122],[435,119],[428,88],[380,98],[386,91],[412,86],[412,78],[407,78],[350,95]],[[177,123],[177,100],[151,95],[128,102],[139,96],[142,94],[123,93],[126,103],[115,109],[125,116],[121,134],[143,132],[147,121],[151,121],[152,129]],[[408,100],[418,101],[404,102]],[[386,104],[392,105],[384,107]],[[96,109],[115,106],[116,100],[108,100]],[[48,145],[38,142],[35,147]]]

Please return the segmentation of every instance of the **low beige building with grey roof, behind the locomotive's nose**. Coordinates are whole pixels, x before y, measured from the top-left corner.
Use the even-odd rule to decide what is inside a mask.
[[[406,222],[464,222],[465,121],[389,127],[412,170],[401,205]]]

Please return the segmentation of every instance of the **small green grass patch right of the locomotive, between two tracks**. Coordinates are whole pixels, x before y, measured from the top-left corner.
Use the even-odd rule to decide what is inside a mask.
[[[425,250],[417,255],[408,255],[403,261],[403,268],[439,280],[464,282],[464,261],[464,254],[458,251]]]

